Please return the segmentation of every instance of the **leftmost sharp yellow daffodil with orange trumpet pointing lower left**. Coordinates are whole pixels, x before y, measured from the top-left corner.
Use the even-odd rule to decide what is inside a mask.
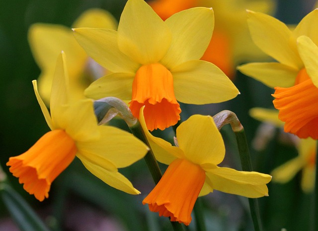
[[[33,87],[43,115],[51,128],[28,151],[10,157],[9,171],[23,188],[43,201],[49,196],[52,181],[77,156],[83,165],[110,186],[131,194],[139,191],[118,173],[144,157],[148,147],[132,134],[111,126],[98,126],[93,102],[82,99],[72,103],[64,54],[57,61],[52,82],[50,112]]]

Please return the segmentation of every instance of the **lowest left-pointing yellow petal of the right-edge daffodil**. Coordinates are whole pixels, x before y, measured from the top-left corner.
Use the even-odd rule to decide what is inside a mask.
[[[299,69],[278,62],[254,62],[238,66],[240,72],[268,87],[294,86]]]

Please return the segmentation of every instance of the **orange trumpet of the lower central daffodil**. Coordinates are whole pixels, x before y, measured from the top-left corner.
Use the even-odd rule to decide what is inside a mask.
[[[185,159],[174,160],[156,187],[143,200],[159,216],[185,225],[191,222],[191,212],[205,181],[205,171]]]

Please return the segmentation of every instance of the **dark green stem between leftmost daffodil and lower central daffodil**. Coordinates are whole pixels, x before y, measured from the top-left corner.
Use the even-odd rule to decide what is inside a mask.
[[[161,170],[159,168],[158,162],[155,158],[154,152],[151,149],[149,142],[146,138],[146,135],[144,133],[143,128],[141,127],[139,121],[137,121],[137,123],[135,123],[134,125],[129,127],[131,132],[133,133],[134,136],[136,136],[138,139],[140,139],[141,141],[143,141],[145,144],[147,144],[147,146],[150,148],[149,152],[146,154],[146,156],[144,157],[146,164],[148,166],[148,169],[155,181],[156,184],[158,184],[159,180],[162,177],[162,173]],[[180,223],[178,222],[171,222],[171,226],[173,228],[174,231],[183,231],[183,228],[181,226]]]

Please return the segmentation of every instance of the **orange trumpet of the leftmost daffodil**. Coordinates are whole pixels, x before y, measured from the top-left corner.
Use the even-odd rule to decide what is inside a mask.
[[[76,153],[74,140],[57,129],[44,134],[25,153],[10,157],[6,165],[27,192],[43,201],[49,197],[52,181],[71,164]]]

